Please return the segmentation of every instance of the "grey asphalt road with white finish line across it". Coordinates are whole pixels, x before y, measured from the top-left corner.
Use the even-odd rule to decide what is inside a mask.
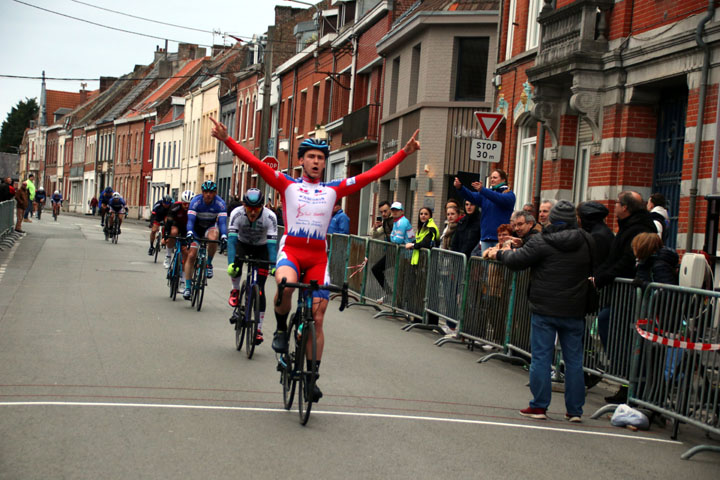
[[[680,459],[713,442],[691,427],[672,441],[589,419],[610,386],[589,392],[582,424],[558,393],[550,420],[529,420],[522,368],[337,302],[325,397],[302,427],[269,341],[252,360],[235,350],[223,268],[198,313],[168,298],[144,225],[118,245],[92,217],[23,228],[0,252],[2,479],[718,478],[720,455]]]

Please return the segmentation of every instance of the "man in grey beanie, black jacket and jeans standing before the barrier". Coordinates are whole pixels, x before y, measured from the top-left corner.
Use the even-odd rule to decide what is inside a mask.
[[[578,228],[575,206],[560,200],[550,211],[550,225],[520,249],[491,249],[490,257],[511,270],[530,268],[528,299],[532,312],[530,345],[530,406],[526,417],[546,419],[552,393],[550,372],[555,336],[565,361],[565,418],[580,422],[585,404],[582,369],[587,277],[593,255],[592,237]]]

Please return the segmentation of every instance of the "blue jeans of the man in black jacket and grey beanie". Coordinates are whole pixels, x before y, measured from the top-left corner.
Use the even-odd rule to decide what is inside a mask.
[[[550,405],[552,396],[550,372],[555,353],[555,334],[557,334],[565,361],[565,411],[570,415],[582,415],[582,407],[585,404],[585,379],[582,369],[584,333],[585,321],[582,317],[532,314],[531,407],[548,408]]]

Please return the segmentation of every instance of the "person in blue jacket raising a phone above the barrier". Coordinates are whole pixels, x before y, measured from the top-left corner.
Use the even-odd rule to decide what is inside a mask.
[[[490,174],[490,188],[483,187],[480,182],[473,182],[472,187],[477,192],[463,186],[455,177],[455,188],[460,196],[481,208],[480,245],[482,251],[497,244],[497,228],[503,223],[510,223],[510,216],[515,208],[515,194],[510,191],[507,184],[507,173],[495,169]]]

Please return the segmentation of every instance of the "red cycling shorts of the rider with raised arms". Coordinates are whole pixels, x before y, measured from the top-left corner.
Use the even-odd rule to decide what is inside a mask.
[[[303,238],[283,236],[278,246],[276,267],[283,266],[292,267],[300,283],[310,283],[311,280],[317,280],[320,285],[330,283],[325,241],[307,242]],[[301,275],[300,272],[304,274]],[[330,292],[318,290],[313,292],[313,297],[329,300]]]

